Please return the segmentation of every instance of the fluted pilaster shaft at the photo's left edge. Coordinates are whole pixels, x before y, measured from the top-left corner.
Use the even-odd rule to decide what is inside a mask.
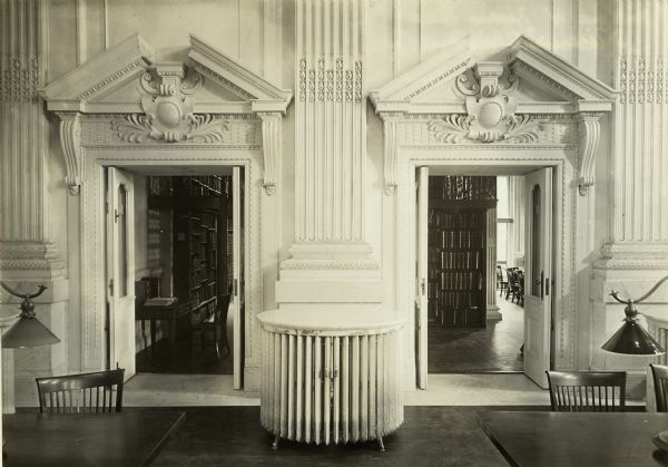
[[[45,1],[0,2],[1,242],[48,237],[48,127],[38,96],[45,80]]]

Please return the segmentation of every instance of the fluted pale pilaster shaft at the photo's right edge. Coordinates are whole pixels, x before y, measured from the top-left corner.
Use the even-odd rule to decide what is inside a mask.
[[[617,1],[613,240],[668,243],[667,0]]]

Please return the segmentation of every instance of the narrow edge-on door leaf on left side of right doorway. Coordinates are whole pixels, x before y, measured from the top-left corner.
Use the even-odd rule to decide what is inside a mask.
[[[418,291],[415,296],[415,329],[418,340],[418,387],[426,389],[426,315],[428,295],[428,242],[429,242],[429,167],[418,168]]]

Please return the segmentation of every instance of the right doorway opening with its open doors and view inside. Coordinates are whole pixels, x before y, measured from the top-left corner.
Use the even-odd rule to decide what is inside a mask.
[[[484,171],[418,169],[418,364],[424,373],[523,372],[542,386],[552,169]]]

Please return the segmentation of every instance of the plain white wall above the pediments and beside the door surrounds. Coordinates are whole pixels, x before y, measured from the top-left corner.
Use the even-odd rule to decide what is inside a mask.
[[[244,66],[273,80],[278,87],[292,88],[295,82],[295,25],[292,0],[197,0],[187,3],[176,0],[107,1],[89,0],[77,29],[75,0],[52,0],[50,3],[49,80],[72,69],[106,46],[112,46],[132,33],[140,33],[156,48],[157,59],[183,58],[187,35],[194,32],[209,41]],[[519,35],[537,40],[541,46],[560,53],[606,82],[611,81],[606,29],[610,23],[606,1],[577,0],[367,0],[365,42],[365,87],[377,88],[406,71],[453,41],[468,37],[474,56],[489,56],[510,45]],[[271,12],[271,14],[268,14]],[[80,13],[81,14],[81,13]],[[264,14],[264,16],[263,16]],[[579,16],[578,16],[579,14]],[[578,21],[574,21],[574,20]],[[78,53],[84,50],[84,53]],[[55,119],[53,119],[55,121]],[[393,210],[383,203],[382,189],[382,125],[367,106],[366,114],[366,181],[365,237],[373,255],[382,262],[384,307],[395,307],[396,275],[395,239],[390,217]],[[55,124],[53,124],[55,125]],[[603,124],[603,127],[606,125]],[[53,183],[49,185],[49,200],[55,213],[67,222],[53,222],[53,237],[67,254],[70,275],[70,332],[69,368],[78,367],[80,318],[78,282],[78,200],[67,195],[60,182],[63,175],[62,155],[56,130],[51,130],[51,158]],[[581,203],[593,203],[589,213],[596,218],[596,230],[582,261],[578,264],[580,294],[578,302],[588,310],[588,282],[590,261],[598,246],[609,240],[608,171],[606,160],[609,135],[603,134],[599,146],[597,185],[595,196]],[[277,262],[288,257],[294,241],[294,111],[288,108],[283,119],[283,160],[278,173],[277,201],[279,212],[275,231],[263,235],[278,235]],[[593,200],[593,201],[589,201]],[[65,213],[65,217],[62,214]],[[591,217],[589,217],[591,218]],[[69,249],[68,249],[69,245]],[[265,303],[273,303],[273,282],[265,278]],[[271,286],[269,286],[271,284]],[[581,315],[582,329],[588,329],[589,315]],[[580,325],[579,324],[579,325]],[[579,334],[580,356],[586,356],[588,338]],[[588,358],[580,359],[587,364]]]

